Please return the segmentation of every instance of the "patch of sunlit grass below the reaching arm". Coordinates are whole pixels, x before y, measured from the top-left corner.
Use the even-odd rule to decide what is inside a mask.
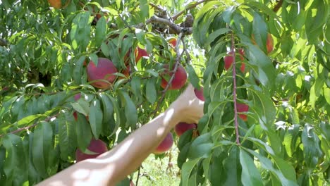
[[[140,178],[138,185],[180,185],[180,169],[177,165],[178,148],[175,144],[170,151],[163,155],[164,158],[160,159],[150,154],[148,158],[143,161],[140,171]],[[169,159],[171,156],[171,160]],[[134,174],[134,183],[138,172]]]

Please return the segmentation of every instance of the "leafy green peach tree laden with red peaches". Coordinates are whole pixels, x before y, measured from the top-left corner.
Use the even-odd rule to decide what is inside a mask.
[[[1,185],[111,149],[188,82],[205,104],[172,132],[181,185],[329,184],[329,11],[329,0],[1,1]]]

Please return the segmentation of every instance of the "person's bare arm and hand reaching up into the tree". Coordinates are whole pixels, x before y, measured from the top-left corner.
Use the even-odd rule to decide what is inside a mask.
[[[197,99],[193,86],[188,85],[169,109],[135,130],[114,149],[96,159],[75,163],[38,185],[116,185],[141,165],[177,123],[198,123],[203,106],[204,101]]]

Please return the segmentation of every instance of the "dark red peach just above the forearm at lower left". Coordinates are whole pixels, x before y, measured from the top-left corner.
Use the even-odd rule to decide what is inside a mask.
[[[94,159],[100,154],[103,154],[104,152],[108,151],[108,147],[106,147],[106,143],[104,143],[102,140],[94,140],[92,139],[90,141],[90,145],[87,147],[89,151],[94,152],[95,154],[85,154],[80,149],[77,149],[75,151],[75,159],[77,162],[85,160],[85,159]]]

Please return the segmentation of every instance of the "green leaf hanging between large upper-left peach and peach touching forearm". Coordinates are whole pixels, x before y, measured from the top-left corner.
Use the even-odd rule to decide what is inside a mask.
[[[99,139],[99,134],[102,132],[102,118],[103,113],[101,110],[101,104],[98,99],[94,99],[90,106],[90,128],[95,139]]]

